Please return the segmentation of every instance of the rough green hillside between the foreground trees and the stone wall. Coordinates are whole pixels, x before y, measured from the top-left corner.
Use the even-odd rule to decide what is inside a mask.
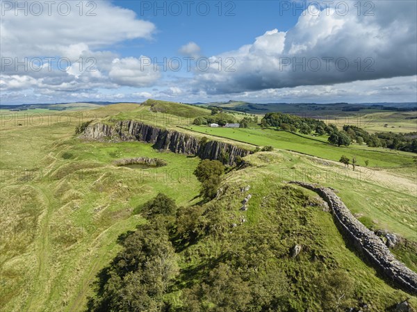
[[[291,288],[297,289],[296,295],[291,297],[294,311],[322,311],[314,281],[322,272],[334,268],[345,270],[355,280],[357,297],[368,304],[369,311],[384,311],[398,302],[399,298],[409,297],[380,279],[373,268],[346,246],[330,213],[322,211],[320,206],[302,205],[298,192],[282,188],[285,185],[283,180],[288,181],[291,175],[283,175],[279,168],[288,167],[288,163],[306,165],[309,161],[281,152],[255,154],[248,156],[247,161],[254,167],[228,174],[223,183],[226,191],[211,203],[222,207],[224,221],[229,225],[240,224],[241,215],[247,219],[247,223],[238,225],[225,238],[208,236],[183,250],[179,284],[189,283],[190,280],[194,284],[199,283],[199,279],[208,274],[211,263],[219,261],[224,256],[224,250],[230,246],[233,246],[236,254],[248,252],[250,246],[246,245],[246,240],[253,236],[270,236],[279,241],[272,245],[270,240],[265,242],[275,254],[274,261],[270,263],[271,269],[285,272],[291,280]],[[240,187],[247,185],[251,186],[250,191],[242,194]],[[313,192],[302,192],[317,197]],[[246,212],[239,211],[240,200],[248,193],[252,194],[250,208]],[[295,244],[302,245],[303,251],[294,259],[289,254]],[[193,274],[190,276],[188,272]],[[417,298],[411,297],[411,303],[416,305]]]

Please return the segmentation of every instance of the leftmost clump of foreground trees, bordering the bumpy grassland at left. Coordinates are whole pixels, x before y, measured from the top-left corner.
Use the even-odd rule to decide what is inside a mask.
[[[179,274],[177,255],[170,241],[167,216],[177,206],[163,194],[140,207],[149,218],[134,232],[120,237],[123,249],[98,274],[96,295],[88,311],[165,311],[164,295]]]

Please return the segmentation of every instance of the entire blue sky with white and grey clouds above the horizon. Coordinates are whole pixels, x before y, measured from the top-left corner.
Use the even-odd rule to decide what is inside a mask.
[[[0,0],[1,104],[417,101],[417,1]]]

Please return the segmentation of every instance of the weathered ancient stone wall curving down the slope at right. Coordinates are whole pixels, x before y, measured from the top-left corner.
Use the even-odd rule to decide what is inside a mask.
[[[404,290],[417,293],[417,273],[398,261],[382,240],[350,213],[333,190],[300,181],[291,181],[290,183],[317,192],[332,208],[336,225],[348,239],[352,240],[353,245],[386,277],[397,282]]]

